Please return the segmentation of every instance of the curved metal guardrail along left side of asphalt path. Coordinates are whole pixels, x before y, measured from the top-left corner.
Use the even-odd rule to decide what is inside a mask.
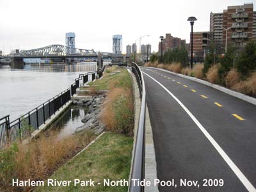
[[[146,110],[146,92],[145,83],[140,67],[132,62],[132,72],[140,90],[141,108],[138,124],[136,143],[134,148],[134,157],[132,161],[132,173],[129,184],[129,192],[143,192],[144,187],[138,185],[138,182],[145,178],[145,110]]]

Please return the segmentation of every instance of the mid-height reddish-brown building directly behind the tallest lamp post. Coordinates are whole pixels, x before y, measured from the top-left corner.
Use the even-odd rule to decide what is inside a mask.
[[[191,36],[191,33],[190,33]],[[209,49],[211,33],[209,31],[193,32],[193,52],[196,56],[204,56],[204,53]],[[189,52],[191,51],[191,39]]]

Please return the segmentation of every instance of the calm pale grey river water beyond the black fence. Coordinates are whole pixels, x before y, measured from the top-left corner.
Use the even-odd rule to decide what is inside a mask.
[[[92,72],[97,64],[25,65],[24,69],[0,67],[0,118],[19,118],[70,87],[79,74]]]

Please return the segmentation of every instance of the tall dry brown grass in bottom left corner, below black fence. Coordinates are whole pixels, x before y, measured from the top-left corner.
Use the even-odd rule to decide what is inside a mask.
[[[0,153],[0,164],[4,167],[0,170],[0,191],[29,191],[29,187],[10,186],[11,180],[46,179],[93,138],[89,132],[62,139],[56,134],[41,135],[31,143],[13,143],[4,148]]]

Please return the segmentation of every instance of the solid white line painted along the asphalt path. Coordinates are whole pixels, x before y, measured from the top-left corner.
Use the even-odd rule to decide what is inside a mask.
[[[153,77],[149,76],[145,72],[143,72],[143,74],[147,75],[148,77],[150,77],[151,79],[156,81],[156,79],[154,79]],[[220,145],[214,140],[214,138],[212,138],[212,136],[209,134],[209,132],[206,131],[206,129],[203,127],[203,125],[201,125],[200,122],[198,122],[198,120],[189,111],[189,109],[186,108],[186,106],[184,106],[184,104],[182,104],[182,102],[180,102],[180,100],[177,99],[177,97],[175,97],[175,95],[173,95],[173,93],[171,93],[165,86],[163,86],[163,84],[159,83],[158,81],[156,81],[156,83],[159,84],[161,87],[163,87],[164,90],[166,90],[166,92],[168,92],[173,97],[173,99],[175,99],[179,103],[179,105],[186,111],[186,113],[188,113],[190,118],[195,122],[195,124],[198,126],[198,128],[204,133],[205,137],[212,143],[213,147],[216,148],[216,150],[221,155],[221,157],[226,161],[228,166],[232,169],[232,171],[236,174],[236,176],[241,180],[241,182],[243,183],[244,187],[249,192],[255,192],[256,189],[253,187],[253,185],[250,183],[250,181],[244,176],[244,174],[239,170],[239,168],[236,166],[236,164],[234,164],[234,162],[230,159],[230,157],[228,157],[228,155],[220,147]]]

